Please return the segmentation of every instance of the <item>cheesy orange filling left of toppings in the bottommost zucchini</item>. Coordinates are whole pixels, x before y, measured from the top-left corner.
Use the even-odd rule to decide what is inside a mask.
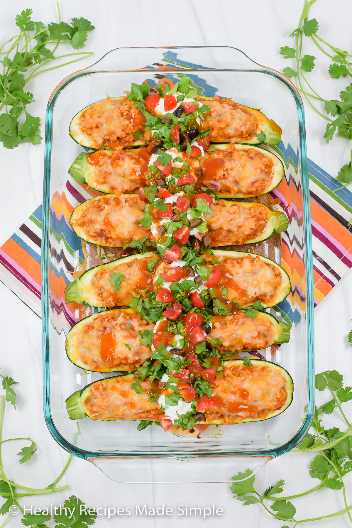
[[[141,382],[142,394],[132,389],[135,376],[121,376],[97,381],[90,386],[84,406],[94,420],[158,420],[161,414],[158,403],[148,398],[156,393],[154,383]]]

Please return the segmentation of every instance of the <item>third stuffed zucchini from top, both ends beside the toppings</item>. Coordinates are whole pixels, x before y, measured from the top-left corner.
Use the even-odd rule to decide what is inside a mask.
[[[122,247],[140,239],[155,241],[160,237],[161,222],[153,215],[151,228],[142,226],[139,221],[144,218],[145,206],[138,194],[96,196],[73,210],[70,224],[78,237],[98,246]],[[204,218],[213,248],[261,242],[285,231],[289,224],[286,214],[271,211],[259,202],[219,200],[210,208],[213,215]]]

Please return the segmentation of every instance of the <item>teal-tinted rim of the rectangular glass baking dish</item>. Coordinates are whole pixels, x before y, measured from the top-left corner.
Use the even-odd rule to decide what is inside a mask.
[[[117,50],[130,50],[130,49],[160,49],[160,50],[172,50],[172,49],[188,49],[194,50],[199,48],[212,49],[212,48],[224,48],[230,50],[236,50],[242,53],[246,59],[253,63],[252,68],[194,68],[197,71],[253,71],[258,73],[264,73],[280,82],[284,83],[290,90],[294,101],[296,102],[298,112],[298,127],[299,127],[299,148],[300,148],[300,164],[301,164],[301,184],[302,184],[302,209],[303,209],[303,228],[304,228],[304,240],[305,240],[305,271],[306,271],[306,322],[307,322],[307,389],[308,389],[308,405],[306,411],[306,417],[303,421],[300,429],[291,438],[290,441],[281,445],[279,448],[263,449],[263,450],[224,450],[222,452],[207,451],[202,449],[201,451],[173,451],[170,454],[167,452],[145,452],[136,454],[135,452],[90,452],[84,449],[80,449],[70,444],[56,429],[50,410],[50,347],[49,347],[49,281],[48,281],[48,249],[49,249],[49,211],[50,211],[50,173],[51,173],[51,146],[52,146],[52,112],[55,105],[55,101],[58,98],[61,91],[68,86],[71,82],[81,77],[88,76],[94,73],[100,72],[135,72],[135,71],[146,71],[145,69],[131,69],[131,70],[118,70],[118,69],[101,69],[92,70],[94,67],[106,58],[107,55]],[[177,72],[185,72],[191,70],[191,68],[175,68]],[[172,71],[170,67],[168,72]],[[164,68],[156,67],[148,69],[147,71],[160,71],[165,72]],[[94,62],[91,66],[72,73],[70,76],[64,78],[58,86],[53,90],[49,102],[47,104],[45,113],[45,151],[44,151],[44,182],[43,182],[43,213],[42,213],[42,266],[41,266],[41,282],[42,282],[42,353],[43,353],[43,411],[44,419],[47,428],[49,429],[52,437],[58,444],[68,451],[71,455],[78,456],[80,458],[90,460],[97,458],[114,458],[114,459],[126,459],[126,458],[182,458],[182,457],[258,457],[264,456],[271,459],[289,452],[299,441],[306,435],[310,424],[313,419],[313,413],[315,409],[315,388],[314,388],[314,315],[313,315],[313,273],[312,273],[312,240],[311,240],[311,222],[310,222],[310,196],[309,196],[309,177],[308,177],[308,160],[307,160],[307,146],[306,146],[306,129],[305,129],[305,112],[302,104],[301,97],[297,88],[294,84],[285,77],[282,73],[273,70],[271,68],[264,67],[252,59],[249,58],[243,51],[238,48],[231,46],[139,46],[139,48],[115,48],[106,54],[104,54],[98,61]]]

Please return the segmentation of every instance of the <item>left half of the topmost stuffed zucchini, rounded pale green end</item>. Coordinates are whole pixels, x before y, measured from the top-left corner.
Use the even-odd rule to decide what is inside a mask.
[[[109,97],[80,110],[70,123],[69,134],[85,148],[144,145],[152,139],[150,131],[145,131],[145,121],[135,102],[128,101],[127,96]],[[134,139],[136,133],[142,136]]]

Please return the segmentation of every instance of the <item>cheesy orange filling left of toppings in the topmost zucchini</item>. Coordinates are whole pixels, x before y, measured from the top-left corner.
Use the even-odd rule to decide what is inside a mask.
[[[144,130],[145,117],[135,106],[134,101],[103,99],[83,110],[79,125],[95,145],[122,140],[132,142],[136,131]]]

